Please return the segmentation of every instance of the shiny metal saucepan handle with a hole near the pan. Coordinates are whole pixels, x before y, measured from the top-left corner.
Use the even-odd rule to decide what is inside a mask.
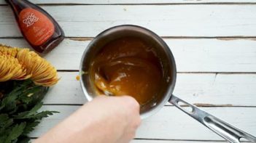
[[[189,103],[185,102],[182,99],[179,99],[178,97],[175,97],[174,95],[171,96],[169,102],[174,106],[178,107],[183,112],[187,113],[187,115],[195,118],[195,120],[198,120],[207,128],[210,128],[212,131],[222,136],[224,139],[228,140],[228,142],[240,143],[240,139],[244,138],[247,141],[256,143],[255,136],[247,134],[246,132],[241,131],[234,126],[225,123],[223,120],[220,120],[219,118],[216,118],[213,115],[210,115],[209,113],[200,110],[194,105],[190,105]],[[186,105],[188,107],[182,107],[179,103],[182,103],[182,105]]]

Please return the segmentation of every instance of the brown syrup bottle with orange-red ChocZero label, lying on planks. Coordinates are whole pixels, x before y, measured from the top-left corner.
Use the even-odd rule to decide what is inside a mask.
[[[12,7],[24,38],[36,52],[50,52],[63,41],[63,30],[44,9],[27,0],[5,1]]]

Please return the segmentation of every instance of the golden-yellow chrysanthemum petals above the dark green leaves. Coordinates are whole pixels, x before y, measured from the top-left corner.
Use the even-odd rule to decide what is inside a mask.
[[[57,70],[35,52],[0,45],[0,82],[27,78],[41,86],[53,86],[59,80]]]

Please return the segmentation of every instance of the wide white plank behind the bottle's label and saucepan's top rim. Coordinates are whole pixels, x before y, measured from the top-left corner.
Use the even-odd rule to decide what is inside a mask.
[[[255,4],[42,6],[66,36],[94,37],[115,25],[133,24],[160,36],[256,36]],[[117,15],[118,14],[118,15]],[[11,9],[0,6],[0,37],[21,36]]]

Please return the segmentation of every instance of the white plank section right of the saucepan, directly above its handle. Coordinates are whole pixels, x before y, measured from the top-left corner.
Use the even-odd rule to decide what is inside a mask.
[[[255,106],[255,87],[255,74],[178,74],[174,95],[201,106]]]

